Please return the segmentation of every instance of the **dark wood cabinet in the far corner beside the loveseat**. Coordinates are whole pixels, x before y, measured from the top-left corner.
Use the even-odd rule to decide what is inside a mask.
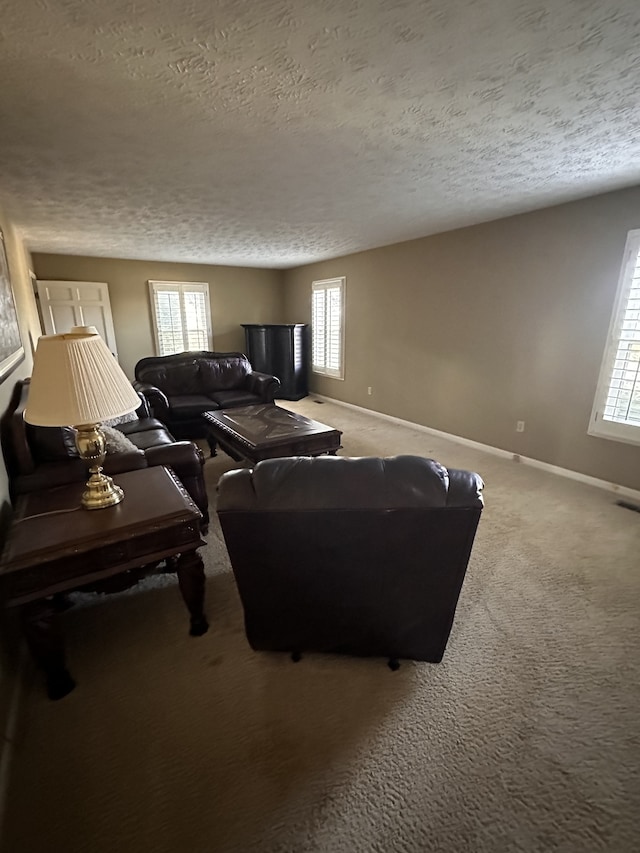
[[[247,356],[254,370],[280,380],[279,400],[309,393],[309,326],[306,323],[243,323]]]

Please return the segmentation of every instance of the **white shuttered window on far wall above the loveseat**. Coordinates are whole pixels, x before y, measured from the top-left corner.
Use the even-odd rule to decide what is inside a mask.
[[[208,284],[150,281],[149,294],[157,355],[213,349]]]

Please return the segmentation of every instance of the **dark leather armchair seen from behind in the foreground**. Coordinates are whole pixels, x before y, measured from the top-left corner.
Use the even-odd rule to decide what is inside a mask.
[[[478,474],[417,456],[229,471],[217,512],[254,649],[438,662],[483,508]]]

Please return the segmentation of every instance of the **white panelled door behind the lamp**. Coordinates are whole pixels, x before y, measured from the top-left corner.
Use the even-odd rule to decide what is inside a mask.
[[[95,326],[118,357],[108,284],[103,281],[38,281],[37,285],[47,335],[60,335],[72,326]]]

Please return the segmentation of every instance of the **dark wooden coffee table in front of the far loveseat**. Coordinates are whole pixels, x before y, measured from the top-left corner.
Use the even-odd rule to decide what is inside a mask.
[[[239,406],[204,412],[207,440],[215,452],[216,444],[240,461],[256,463],[279,456],[335,456],[342,446],[342,433],[282,409],[274,403],[258,406]]]

